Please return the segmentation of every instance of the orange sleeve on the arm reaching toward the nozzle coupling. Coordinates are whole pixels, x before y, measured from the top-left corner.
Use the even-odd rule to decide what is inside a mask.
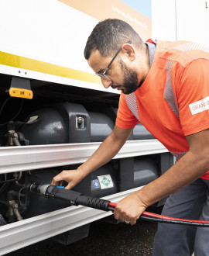
[[[137,125],[139,120],[135,118],[126,104],[125,95],[122,93],[119,100],[118,113],[116,118],[116,126],[122,129],[130,129]]]

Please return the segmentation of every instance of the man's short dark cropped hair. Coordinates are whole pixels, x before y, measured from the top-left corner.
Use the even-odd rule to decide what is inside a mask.
[[[136,47],[142,46],[142,39],[127,22],[121,19],[105,19],[94,27],[87,39],[84,57],[89,59],[92,50],[99,50],[101,56],[115,54],[123,43],[133,43]]]

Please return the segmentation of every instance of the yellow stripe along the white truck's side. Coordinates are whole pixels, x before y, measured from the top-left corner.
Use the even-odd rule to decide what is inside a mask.
[[[101,85],[100,78],[95,74],[87,73],[84,71],[77,71],[69,67],[62,67],[44,61],[36,61],[29,59],[28,57],[8,54],[2,51],[0,51],[0,64],[10,67],[18,67],[29,71],[36,71],[44,74],[53,74],[63,78],[88,81]]]

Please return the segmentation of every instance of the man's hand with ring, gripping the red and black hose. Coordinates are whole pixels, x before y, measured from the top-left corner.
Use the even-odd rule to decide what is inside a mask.
[[[137,193],[139,192],[128,195],[125,199],[118,202],[114,212],[116,220],[121,220],[122,222],[125,222],[126,224],[130,223],[131,225],[136,223],[136,220],[139,219],[147,207],[146,204],[139,199]]]

